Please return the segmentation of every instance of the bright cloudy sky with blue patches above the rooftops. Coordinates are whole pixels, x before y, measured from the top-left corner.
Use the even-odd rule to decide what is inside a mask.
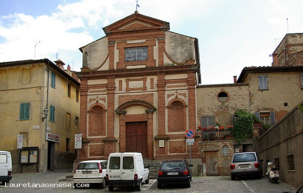
[[[139,0],[141,14],[199,40],[202,85],[270,66],[287,33],[303,33],[303,0]],[[75,71],[79,48],[136,10],[136,0],[0,0],[0,62],[48,58]],[[65,66],[65,69],[67,66]]]

